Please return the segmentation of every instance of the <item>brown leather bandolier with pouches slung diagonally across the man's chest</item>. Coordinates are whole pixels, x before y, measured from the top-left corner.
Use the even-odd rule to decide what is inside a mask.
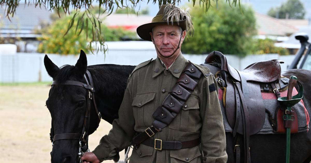
[[[197,86],[201,75],[202,72],[191,62],[187,64],[179,79],[177,79],[176,84],[170,90],[169,95],[152,114],[155,118],[152,125],[145,132],[138,134],[132,139],[133,147],[152,137],[156,132],[160,132],[174,120],[183,107],[188,107],[185,105],[185,102]]]

